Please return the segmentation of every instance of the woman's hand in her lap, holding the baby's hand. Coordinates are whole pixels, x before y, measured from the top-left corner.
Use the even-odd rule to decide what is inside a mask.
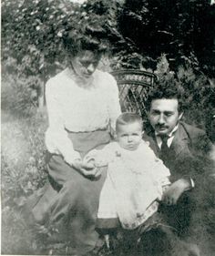
[[[100,174],[102,169],[97,168],[95,164],[95,160],[92,158],[88,159],[75,159],[72,163],[72,166],[80,171],[86,177],[95,177],[97,178]]]

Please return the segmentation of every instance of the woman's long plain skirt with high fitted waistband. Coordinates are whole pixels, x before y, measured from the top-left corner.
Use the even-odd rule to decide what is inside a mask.
[[[68,137],[82,157],[110,141],[107,130],[68,133]],[[53,240],[68,242],[74,253],[84,254],[97,243],[98,200],[107,168],[99,178],[89,179],[67,165],[61,156],[48,154],[47,170],[49,182],[29,200],[27,208],[33,221],[56,229]]]

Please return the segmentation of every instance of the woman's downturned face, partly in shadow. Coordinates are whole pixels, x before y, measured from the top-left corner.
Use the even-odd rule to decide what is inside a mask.
[[[100,58],[100,54],[85,50],[77,54],[77,56],[71,57],[70,64],[78,77],[86,79],[92,76],[97,68]]]

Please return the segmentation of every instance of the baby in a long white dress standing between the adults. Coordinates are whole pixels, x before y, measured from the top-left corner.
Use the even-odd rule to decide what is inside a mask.
[[[142,140],[142,119],[123,113],[117,119],[116,142],[90,151],[86,159],[96,167],[107,165],[107,179],[100,193],[98,229],[135,230],[157,212],[168,188],[169,169]]]

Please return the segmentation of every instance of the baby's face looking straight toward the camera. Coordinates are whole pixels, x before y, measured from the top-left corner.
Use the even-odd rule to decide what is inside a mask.
[[[138,122],[118,126],[117,140],[121,148],[136,150],[141,139],[142,128]]]

